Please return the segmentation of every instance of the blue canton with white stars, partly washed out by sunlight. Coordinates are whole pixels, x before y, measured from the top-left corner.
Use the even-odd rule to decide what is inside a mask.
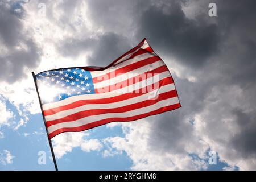
[[[81,68],[64,68],[41,72],[36,82],[42,104],[72,96],[95,93],[92,75]]]

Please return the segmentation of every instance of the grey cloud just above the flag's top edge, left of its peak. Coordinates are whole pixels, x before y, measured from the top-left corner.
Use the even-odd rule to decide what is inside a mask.
[[[97,38],[84,40],[71,38],[60,43],[59,52],[64,56],[76,57],[82,52],[93,51],[88,65],[105,67],[131,48],[129,40],[113,32],[106,32]]]

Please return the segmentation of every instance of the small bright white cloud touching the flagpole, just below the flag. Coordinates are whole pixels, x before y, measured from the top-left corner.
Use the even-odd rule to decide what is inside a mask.
[[[102,144],[98,139],[85,139],[89,133],[62,133],[52,139],[53,149],[56,158],[62,158],[73,148],[80,147],[84,152],[99,151]]]

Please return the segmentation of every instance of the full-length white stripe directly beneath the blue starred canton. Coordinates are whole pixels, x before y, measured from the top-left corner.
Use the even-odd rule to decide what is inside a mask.
[[[72,102],[79,101],[79,100],[92,100],[92,99],[98,99],[98,98],[109,98],[109,97],[119,96],[123,93],[127,93],[127,90],[129,90],[129,92],[132,92],[134,90],[143,88],[145,86],[143,85],[144,82],[150,84],[150,81],[154,80],[154,83],[156,83],[159,80],[162,80],[163,78],[170,77],[170,76],[171,76],[170,72],[166,71],[166,72],[159,73],[158,75],[155,75],[152,78],[148,78],[146,81],[142,80],[140,82],[136,82],[133,85],[129,85],[127,87],[121,88],[118,90],[118,92],[117,90],[113,90],[108,93],[83,94],[79,96],[72,96],[61,101],[44,104],[42,107],[43,107],[43,110],[48,110],[55,107],[68,105],[68,104],[71,104]]]

